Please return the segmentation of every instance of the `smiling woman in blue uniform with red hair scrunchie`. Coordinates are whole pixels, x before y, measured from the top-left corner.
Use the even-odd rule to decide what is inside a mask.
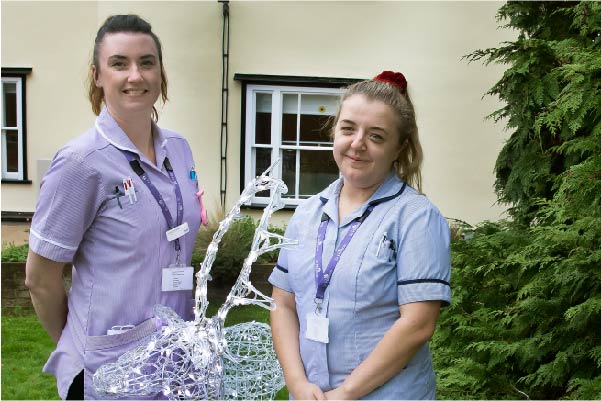
[[[450,302],[449,228],[420,192],[401,73],[351,85],[335,118],[341,177],[296,209],[269,281],[294,399],[433,399],[428,340]]]

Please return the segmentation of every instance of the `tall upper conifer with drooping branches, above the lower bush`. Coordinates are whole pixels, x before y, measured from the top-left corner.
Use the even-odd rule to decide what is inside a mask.
[[[551,199],[560,175],[601,146],[601,4],[509,2],[498,19],[518,39],[467,59],[508,65],[488,92],[506,103],[489,117],[513,131],[496,162],[495,189],[511,216],[528,223],[539,209],[533,200]]]

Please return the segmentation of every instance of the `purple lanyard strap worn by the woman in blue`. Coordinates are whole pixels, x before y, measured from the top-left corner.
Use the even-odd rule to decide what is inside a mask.
[[[357,232],[363,220],[369,216],[369,214],[374,210],[375,205],[370,205],[363,212],[363,215],[357,217],[351,223],[351,227],[348,232],[338,245],[338,248],[334,251],[334,255],[330,259],[328,263],[328,267],[326,271],[323,271],[323,241],[326,239],[326,231],[328,229],[328,222],[330,218],[324,213],[321,217],[321,223],[319,224],[319,229],[317,230],[317,249],[315,251],[315,285],[317,286],[317,293],[315,294],[315,301],[320,304],[323,301],[324,294],[326,292],[326,288],[330,285],[330,280],[332,278],[332,274],[334,273],[334,269],[336,269],[336,265],[340,261],[340,257],[342,256],[342,252],[346,249],[348,244],[353,239],[353,235]]]

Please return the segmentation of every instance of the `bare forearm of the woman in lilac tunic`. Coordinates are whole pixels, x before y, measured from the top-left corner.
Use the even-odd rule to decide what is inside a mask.
[[[54,262],[29,251],[25,285],[42,327],[52,340],[60,339],[67,321],[67,294],[63,284],[64,263]]]

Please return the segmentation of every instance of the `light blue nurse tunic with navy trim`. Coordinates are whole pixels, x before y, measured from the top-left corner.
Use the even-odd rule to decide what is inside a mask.
[[[399,305],[451,300],[450,233],[439,210],[394,172],[360,208],[338,221],[343,179],[309,198],[296,212],[286,237],[299,246],[282,250],[269,282],[295,296],[299,343],[307,378],[328,391],[373,351],[400,317]],[[315,313],[314,273],[317,232],[329,217],[323,265],[353,220],[375,205],[342,253],[331,277],[321,314],[329,318],[329,343],[305,337],[306,315]],[[436,377],[424,344],[409,364],[364,399],[433,399]]]

